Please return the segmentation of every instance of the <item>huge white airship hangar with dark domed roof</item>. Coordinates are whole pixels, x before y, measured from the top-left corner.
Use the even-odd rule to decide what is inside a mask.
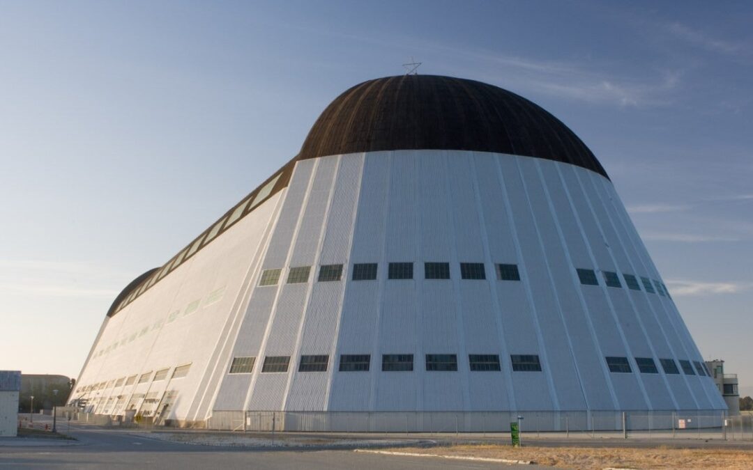
[[[727,409],[585,144],[512,92],[428,75],[348,89],[294,159],[133,280],[72,399],[224,429]]]

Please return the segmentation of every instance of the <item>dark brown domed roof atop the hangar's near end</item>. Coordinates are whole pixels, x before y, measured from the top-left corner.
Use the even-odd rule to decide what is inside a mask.
[[[608,177],[562,121],[475,80],[403,75],[343,92],[319,116],[297,159],[379,150],[477,150],[571,163]]]

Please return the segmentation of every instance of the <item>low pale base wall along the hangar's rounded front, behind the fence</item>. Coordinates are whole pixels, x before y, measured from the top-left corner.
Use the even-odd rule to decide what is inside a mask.
[[[215,411],[207,429],[288,432],[527,432],[706,429],[724,412],[709,411]],[[245,419],[244,419],[245,418]],[[623,426],[624,420],[624,426]]]

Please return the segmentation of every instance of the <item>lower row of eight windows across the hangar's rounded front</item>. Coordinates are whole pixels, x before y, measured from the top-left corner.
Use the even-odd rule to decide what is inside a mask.
[[[541,371],[541,362],[535,354],[513,354],[510,356],[514,371]],[[253,356],[234,357],[230,364],[230,374],[250,374],[254,370],[256,358]],[[329,363],[328,355],[300,356],[299,372],[325,372]],[[471,371],[500,371],[497,354],[469,354]],[[262,372],[287,372],[290,356],[265,356]],[[365,372],[371,365],[370,354],[340,355],[341,372]],[[427,371],[457,371],[457,354],[426,354]],[[413,354],[383,354],[383,371],[413,371]]]

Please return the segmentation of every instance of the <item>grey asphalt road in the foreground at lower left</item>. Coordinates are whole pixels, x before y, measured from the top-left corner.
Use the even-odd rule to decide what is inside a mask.
[[[67,427],[67,423],[66,423]],[[303,468],[305,470],[392,470],[396,468],[499,468],[499,463],[431,457],[387,456],[353,450],[266,450],[206,447],[144,438],[111,429],[71,426],[61,429],[75,445],[0,447],[0,468]],[[34,440],[39,442],[39,440]],[[510,468],[541,468],[505,465]]]

